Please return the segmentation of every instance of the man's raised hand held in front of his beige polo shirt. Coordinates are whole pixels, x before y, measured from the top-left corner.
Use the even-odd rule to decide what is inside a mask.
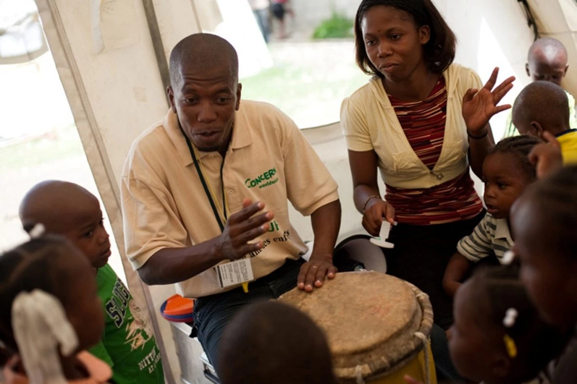
[[[253,202],[244,199],[242,209],[230,215],[222,235],[216,246],[216,255],[219,260],[236,260],[246,254],[258,251],[263,242],[249,243],[250,240],[268,231],[268,222],[275,217],[272,212],[264,212],[254,216],[264,209],[263,202]]]

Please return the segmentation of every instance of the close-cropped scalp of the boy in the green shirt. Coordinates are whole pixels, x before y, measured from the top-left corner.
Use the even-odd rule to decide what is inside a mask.
[[[33,186],[20,204],[20,220],[26,231],[42,223],[47,232],[63,234],[81,221],[89,207],[100,209],[98,199],[83,187],[60,180]]]

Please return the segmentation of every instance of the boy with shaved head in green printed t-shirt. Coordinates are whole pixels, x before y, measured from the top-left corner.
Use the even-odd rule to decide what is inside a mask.
[[[107,263],[110,240],[98,199],[76,184],[48,180],[25,195],[20,220],[27,231],[42,223],[48,234],[65,236],[87,255],[94,268],[105,318],[102,340],[89,352],[110,365],[113,381],[164,383],[160,351],[152,329]]]

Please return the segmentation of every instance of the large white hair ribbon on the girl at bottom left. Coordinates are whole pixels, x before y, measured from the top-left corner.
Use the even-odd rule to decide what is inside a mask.
[[[12,329],[30,384],[68,383],[58,346],[70,356],[78,337],[57,298],[39,289],[19,293],[12,304]]]

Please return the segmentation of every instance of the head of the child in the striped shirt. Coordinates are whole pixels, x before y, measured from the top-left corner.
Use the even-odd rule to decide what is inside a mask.
[[[496,219],[508,219],[511,205],[535,181],[535,167],[529,162],[531,149],[541,142],[530,136],[501,140],[483,163],[485,205]]]

